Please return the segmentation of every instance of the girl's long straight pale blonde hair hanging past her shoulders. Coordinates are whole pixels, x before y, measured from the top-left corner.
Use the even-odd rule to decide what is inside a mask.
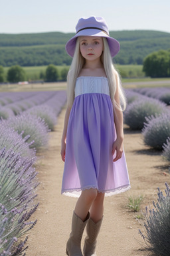
[[[124,95],[124,90],[122,88],[122,84],[120,81],[120,75],[118,71],[116,71],[114,64],[112,63],[112,57],[110,55],[110,49],[108,46],[108,41],[106,38],[102,37],[104,42],[104,52],[101,55],[101,61],[104,65],[104,70],[106,72],[106,76],[108,78],[108,84],[110,87],[110,98],[112,100],[112,103],[114,107],[124,111],[126,109],[126,97]],[[82,69],[82,67],[85,64],[85,59],[82,57],[80,53],[80,37],[78,37],[76,41],[76,48],[74,51],[74,57],[72,59],[72,64],[70,66],[70,69],[68,71],[67,76],[67,105],[68,107],[72,107],[72,104],[74,102],[74,88],[76,85],[76,79]],[[121,106],[116,103],[116,100],[114,99],[116,89],[119,91],[120,95],[120,103]]]

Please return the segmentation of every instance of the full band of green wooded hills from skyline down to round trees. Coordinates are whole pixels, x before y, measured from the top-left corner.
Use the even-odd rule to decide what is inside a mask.
[[[72,58],[64,48],[73,35],[62,32],[0,34],[0,65],[70,65]],[[114,58],[120,65],[142,65],[148,54],[170,48],[170,33],[161,31],[110,31],[110,36],[120,41],[120,53]]]

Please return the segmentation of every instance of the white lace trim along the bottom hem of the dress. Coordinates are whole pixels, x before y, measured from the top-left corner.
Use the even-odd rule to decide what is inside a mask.
[[[119,193],[123,193],[128,191],[131,188],[131,186],[128,185],[124,185],[123,187],[117,187],[116,189],[110,189],[107,191],[100,191],[98,190],[99,193],[105,193],[106,197],[110,197],[112,195],[117,195]],[[88,187],[84,187],[82,189],[68,189],[68,190],[63,190],[62,191],[62,195],[66,195],[68,197],[80,197],[80,193],[81,191],[84,191],[86,189],[98,189],[98,187],[96,186],[88,186]]]

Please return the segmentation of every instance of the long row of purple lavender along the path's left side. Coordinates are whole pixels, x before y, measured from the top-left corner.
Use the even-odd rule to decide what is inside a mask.
[[[38,204],[36,152],[66,102],[65,91],[0,94],[0,255],[25,255],[23,235]]]

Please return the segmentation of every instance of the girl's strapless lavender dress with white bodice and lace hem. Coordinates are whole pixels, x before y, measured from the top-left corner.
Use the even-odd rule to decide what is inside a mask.
[[[130,188],[126,158],[113,162],[114,111],[106,77],[78,77],[68,119],[62,194],[95,188],[105,196]]]

